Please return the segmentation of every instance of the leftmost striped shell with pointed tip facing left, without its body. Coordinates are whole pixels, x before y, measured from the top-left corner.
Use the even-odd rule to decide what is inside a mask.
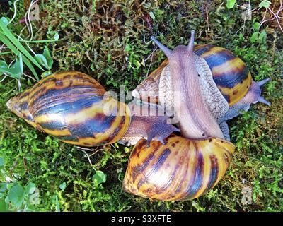
[[[118,141],[130,124],[130,109],[84,73],[69,71],[43,78],[12,97],[7,106],[36,129],[82,146]]]

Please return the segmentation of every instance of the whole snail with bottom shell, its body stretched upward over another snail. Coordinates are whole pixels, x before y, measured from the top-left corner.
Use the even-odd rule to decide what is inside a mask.
[[[206,72],[204,59],[193,52],[194,34],[188,46],[173,50],[151,38],[168,57],[160,80],[162,73],[170,78],[160,81],[159,88],[165,90],[158,90],[158,97],[160,101],[161,95],[168,95],[163,100],[173,105],[180,136],[169,136],[165,145],[151,141],[149,147],[146,140],[139,140],[123,181],[123,189],[130,194],[162,201],[197,198],[219,182],[231,162],[235,146],[224,139],[217,121],[229,104]]]

